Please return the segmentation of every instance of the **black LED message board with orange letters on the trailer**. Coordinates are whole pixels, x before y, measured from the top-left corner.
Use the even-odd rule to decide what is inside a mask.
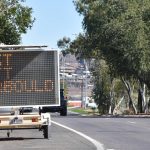
[[[0,106],[59,104],[57,51],[1,51]]]

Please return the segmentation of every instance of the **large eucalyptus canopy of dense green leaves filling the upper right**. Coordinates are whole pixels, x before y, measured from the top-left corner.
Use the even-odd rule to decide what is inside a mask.
[[[83,28],[90,39],[89,53],[91,50],[101,53],[115,74],[125,80],[135,78],[150,88],[149,0],[76,0],[74,3],[84,17]],[[131,99],[129,104],[132,105]]]

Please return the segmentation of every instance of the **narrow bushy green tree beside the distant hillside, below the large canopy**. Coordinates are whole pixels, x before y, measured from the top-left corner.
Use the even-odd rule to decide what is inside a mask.
[[[94,82],[93,98],[98,104],[99,112],[101,114],[108,113],[110,106],[110,76],[105,61],[96,60],[92,74]]]

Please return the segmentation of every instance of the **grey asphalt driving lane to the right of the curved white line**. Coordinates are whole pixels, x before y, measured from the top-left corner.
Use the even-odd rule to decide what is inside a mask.
[[[97,140],[105,150],[150,150],[150,118],[55,116],[53,120]]]

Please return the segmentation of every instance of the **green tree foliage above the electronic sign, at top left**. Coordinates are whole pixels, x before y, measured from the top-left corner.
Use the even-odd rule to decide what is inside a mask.
[[[24,0],[1,0],[0,43],[19,44],[21,34],[32,27],[32,8],[23,5]]]

